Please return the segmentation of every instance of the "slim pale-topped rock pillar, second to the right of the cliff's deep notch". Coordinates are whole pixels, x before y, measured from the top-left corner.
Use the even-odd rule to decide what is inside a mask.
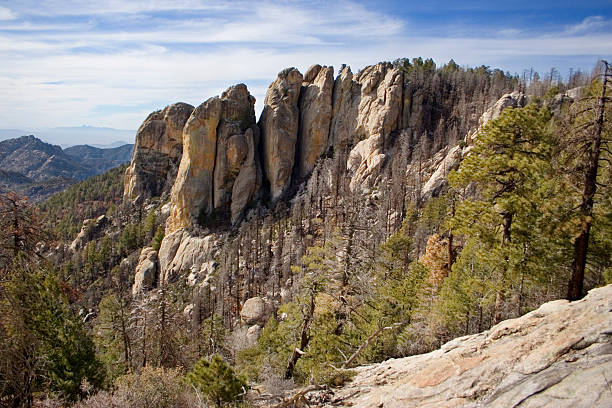
[[[319,157],[330,147],[334,67],[313,65],[304,74],[300,92],[297,174],[310,175]]]

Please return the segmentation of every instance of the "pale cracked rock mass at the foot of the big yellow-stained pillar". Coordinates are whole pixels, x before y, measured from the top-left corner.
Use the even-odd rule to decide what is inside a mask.
[[[160,281],[174,281],[181,272],[202,277],[211,272],[211,261],[217,251],[217,236],[198,237],[184,229],[164,237],[159,248]]]

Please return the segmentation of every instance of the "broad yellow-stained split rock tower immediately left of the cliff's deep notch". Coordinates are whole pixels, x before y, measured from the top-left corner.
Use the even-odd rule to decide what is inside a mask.
[[[243,167],[248,169],[239,181],[247,188],[236,193],[237,202],[248,202],[257,191],[254,105],[246,85],[239,84],[193,111],[183,130],[183,156],[170,193],[166,233],[190,227],[198,217],[228,207]],[[234,206],[234,219],[243,208]]]

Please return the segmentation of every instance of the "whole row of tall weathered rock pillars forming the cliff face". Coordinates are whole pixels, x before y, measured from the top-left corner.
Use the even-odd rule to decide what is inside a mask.
[[[334,80],[333,67],[314,65],[304,75],[288,68],[270,84],[257,123],[255,99],[244,84],[195,109],[176,104],[152,113],[138,131],[124,197],[170,192],[159,281],[212,261],[214,246],[202,246],[201,227],[227,230],[247,208],[272,208],[304,189],[316,190],[310,200],[319,202],[319,211],[330,194],[338,203],[346,194],[367,197],[385,183],[417,201],[438,194],[469,151],[452,145],[499,96],[476,100],[478,92],[491,96],[457,81],[461,91],[450,92],[450,80],[439,75],[379,63],[357,74],[343,66]],[[449,96],[460,92],[465,95]],[[459,97],[475,100],[458,105]],[[506,95],[481,124],[522,104],[523,96]],[[417,180],[412,190],[409,179]],[[399,220],[404,204],[394,205],[388,219]],[[192,247],[207,255],[183,253]]]

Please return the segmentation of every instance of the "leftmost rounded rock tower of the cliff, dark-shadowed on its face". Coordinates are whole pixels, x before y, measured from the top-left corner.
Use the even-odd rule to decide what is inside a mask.
[[[151,113],[136,133],[132,162],[125,171],[125,199],[169,191],[183,152],[183,126],[193,106],[175,103]]]

